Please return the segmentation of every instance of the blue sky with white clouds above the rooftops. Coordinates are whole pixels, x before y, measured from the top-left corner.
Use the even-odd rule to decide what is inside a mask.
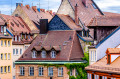
[[[40,1],[40,8],[52,9],[53,11],[57,11],[58,7],[60,6],[61,0],[0,0],[0,11],[2,14],[11,14],[12,11],[16,8],[16,3],[20,3],[23,1],[23,4],[29,4],[39,7]],[[49,2],[48,2],[49,1]],[[120,13],[120,0],[94,0],[97,5],[101,8],[102,11],[106,12],[114,12]],[[12,6],[11,6],[12,4]]]

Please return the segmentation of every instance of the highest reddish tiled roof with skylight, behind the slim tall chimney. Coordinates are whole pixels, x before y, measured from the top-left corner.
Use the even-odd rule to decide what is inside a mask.
[[[78,16],[82,23],[85,24],[85,26],[90,23],[93,17],[103,15],[102,11],[99,9],[99,7],[95,4],[93,0],[87,1],[87,7],[85,7],[82,3],[82,0],[69,0],[74,10],[75,5],[78,5]],[[93,7],[93,4],[96,9]]]

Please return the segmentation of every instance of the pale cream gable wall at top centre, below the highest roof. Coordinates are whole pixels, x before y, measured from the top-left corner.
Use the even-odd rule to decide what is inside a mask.
[[[68,0],[63,0],[61,6],[58,9],[57,14],[65,14],[65,15],[69,15],[70,17],[72,17],[73,19],[75,19],[75,13],[73,8],[71,7],[70,3],[68,2]]]

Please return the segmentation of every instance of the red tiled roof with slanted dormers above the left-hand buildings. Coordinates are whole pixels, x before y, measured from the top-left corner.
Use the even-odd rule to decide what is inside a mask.
[[[10,16],[10,15],[4,15],[0,14],[2,18],[4,18],[5,22],[9,23],[8,29],[15,34],[18,33],[30,33],[30,29],[25,24],[25,22],[20,17]]]

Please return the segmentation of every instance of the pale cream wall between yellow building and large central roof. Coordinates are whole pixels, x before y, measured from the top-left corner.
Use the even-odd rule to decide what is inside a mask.
[[[14,63],[16,60],[18,60],[20,57],[21,57],[21,55],[24,53],[24,51],[25,51],[25,46],[30,46],[30,44],[25,44],[25,45],[13,45],[13,48],[12,49],[18,49],[18,54],[17,55],[13,55],[13,59],[12,59],[12,63]],[[22,49],[22,54],[20,54],[20,49]],[[13,68],[12,67],[12,70],[13,70],[13,74],[12,74],[12,76],[16,76],[16,74],[15,74],[15,69],[16,68]]]

